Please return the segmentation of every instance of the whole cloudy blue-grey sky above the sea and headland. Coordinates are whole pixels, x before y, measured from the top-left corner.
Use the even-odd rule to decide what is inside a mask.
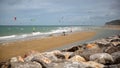
[[[120,19],[119,6],[120,0],[0,0],[0,25],[104,25]]]

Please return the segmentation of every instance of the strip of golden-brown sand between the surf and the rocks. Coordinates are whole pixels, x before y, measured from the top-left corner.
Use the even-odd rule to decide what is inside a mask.
[[[92,38],[95,34],[96,32],[77,32],[66,36],[51,36],[48,38],[18,41],[4,45],[0,44],[0,62],[6,61],[14,56],[23,56],[31,50],[43,52],[73,42],[86,40]]]

